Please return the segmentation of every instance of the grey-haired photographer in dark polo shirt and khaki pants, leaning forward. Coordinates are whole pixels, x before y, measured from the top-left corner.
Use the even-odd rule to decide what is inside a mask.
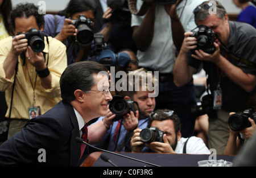
[[[255,63],[256,30],[249,24],[229,21],[225,8],[220,2],[215,2],[214,7],[207,1],[194,10],[196,24],[214,32],[213,53],[198,49],[198,36],[192,37],[193,32],[185,32],[174,65],[174,81],[177,86],[187,84],[203,63],[212,97],[222,93],[221,109],[213,110],[215,114],[209,117],[209,148],[215,148],[217,154],[224,154],[229,138],[229,113],[245,110],[249,98],[256,92],[256,70],[237,60],[240,57]],[[217,14],[210,13],[212,8]]]

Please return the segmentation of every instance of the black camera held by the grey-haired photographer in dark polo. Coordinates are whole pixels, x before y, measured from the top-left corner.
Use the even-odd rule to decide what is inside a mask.
[[[214,41],[215,35],[214,32],[207,26],[201,25],[198,26],[198,31],[193,31],[191,37],[195,37],[197,40],[196,49],[192,49],[192,53],[195,54],[196,50],[202,49],[204,52],[212,54],[215,51]]]

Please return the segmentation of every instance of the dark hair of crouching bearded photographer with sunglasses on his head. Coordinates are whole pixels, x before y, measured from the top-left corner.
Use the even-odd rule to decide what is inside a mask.
[[[177,135],[177,132],[181,130],[181,124],[180,124],[180,118],[176,114],[167,115],[164,112],[170,111],[168,109],[158,109],[154,113],[158,113],[153,118],[148,118],[147,127],[150,128],[153,121],[164,121],[164,120],[172,120],[174,122],[174,129],[175,134]]]

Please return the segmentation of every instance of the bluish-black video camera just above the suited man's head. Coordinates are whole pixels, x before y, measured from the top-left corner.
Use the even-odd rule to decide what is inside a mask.
[[[131,62],[131,58],[127,53],[114,53],[111,49],[106,49],[102,33],[94,34],[94,44],[95,49],[90,61],[96,61],[104,64],[108,69],[110,69],[111,66],[126,68]]]

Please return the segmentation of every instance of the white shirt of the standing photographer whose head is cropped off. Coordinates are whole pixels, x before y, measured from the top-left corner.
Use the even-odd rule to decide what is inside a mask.
[[[177,6],[177,14],[184,30],[196,28],[193,10],[203,3],[203,0],[183,0]],[[137,0],[137,10],[141,8],[142,0]],[[145,52],[138,51],[139,66],[155,69],[161,73],[170,73],[176,59],[176,47],[172,40],[171,18],[164,5],[157,5],[155,10],[154,38]],[[132,14],[131,27],[140,26],[144,16]]]

